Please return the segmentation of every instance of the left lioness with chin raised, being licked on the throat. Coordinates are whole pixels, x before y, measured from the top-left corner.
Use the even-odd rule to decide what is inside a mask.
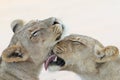
[[[56,18],[11,24],[14,35],[2,53],[0,80],[39,80],[42,63],[64,31]]]

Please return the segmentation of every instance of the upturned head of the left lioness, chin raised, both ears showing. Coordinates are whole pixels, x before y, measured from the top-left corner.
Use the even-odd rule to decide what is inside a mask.
[[[30,21],[22,20],[11,23],[13,38],[2,53],[5,62],[21,62],[32,60],[36,64],[44,61],[47,53],[63,34],[63,24],[56,18]]]

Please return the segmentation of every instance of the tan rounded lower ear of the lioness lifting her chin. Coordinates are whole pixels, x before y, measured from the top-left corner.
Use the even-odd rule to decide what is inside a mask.
[[[21,62],[28,58],[28,52],[18,43],[8,47],[2,53],[2,60],[5,62]]]

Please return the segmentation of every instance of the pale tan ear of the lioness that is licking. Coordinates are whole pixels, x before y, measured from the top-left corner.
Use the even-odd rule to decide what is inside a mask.
[[[115,46],[107,46],[105,48],[95,46],[95,55],[97,57],[96,58],[97,63],[104,63],[117,59],[119,55],[119,50]]]

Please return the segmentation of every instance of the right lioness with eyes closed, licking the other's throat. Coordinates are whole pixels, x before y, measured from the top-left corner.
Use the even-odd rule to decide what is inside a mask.
[[[54,46],[45,68],[73,71],[81,80],[120,80],[118,48],[104,47],[93,38],[76,34]]]

